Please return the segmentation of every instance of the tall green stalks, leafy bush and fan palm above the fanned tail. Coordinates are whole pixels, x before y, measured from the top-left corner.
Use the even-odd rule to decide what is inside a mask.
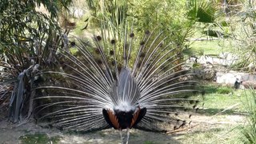
[[[177,48],[175,53],[182,56],[194,54],[188,38],[194,35],[198,22],[213,23],[217,11],[214,3],[198,0],[87,2],[94,19],[91,21],[94,24],[90,26],[100,27],[103,38],[118,41],[124,39],[125,33],[132,31],[135,37],[142,39],[145,30],[154,30],[153,34],[162,33],[166,43],[170,43],[171,48]],[[159,38],[155,43],[161,40]]]

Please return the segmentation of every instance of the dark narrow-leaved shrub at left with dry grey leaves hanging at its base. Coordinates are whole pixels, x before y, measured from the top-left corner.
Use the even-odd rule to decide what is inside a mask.
[[[62,34],[56,19],[58,9],[70,2],[7,0],[0,3],[0,54],[4,57],[0,66],[9,74],[0,84],[13,85],[9,108],[11,122],[30,118],[39,67],[44,69],[53,64],[58,47],[67,47],[66,34]],[[50,10],[50,16],[35,10],[41,4]]]

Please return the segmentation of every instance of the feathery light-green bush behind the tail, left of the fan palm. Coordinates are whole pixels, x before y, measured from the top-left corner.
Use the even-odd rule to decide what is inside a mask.
[[[162,31],[174,47],[185,48],[186,38],[194,34],[194,22],[184,17],[186,3],[183,1],[136,1],[129,15],[133,15],[134,29]]]

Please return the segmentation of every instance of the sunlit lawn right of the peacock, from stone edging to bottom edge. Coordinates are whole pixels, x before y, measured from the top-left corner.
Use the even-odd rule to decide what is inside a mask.
[[[247,98],[250,90],[234,90],[227,86],[206,84],[204,105],[192,117],[194,127],[174,138],[182,143],[242,143],[242,126],[248,122]],[[203,102],[202,102],[203,103]]]

